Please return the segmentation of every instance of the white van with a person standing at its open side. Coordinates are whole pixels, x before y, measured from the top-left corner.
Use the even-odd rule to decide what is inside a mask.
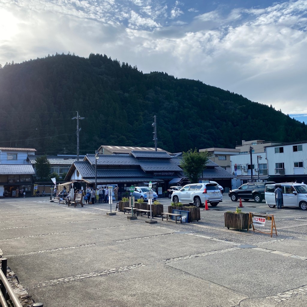
[[[307,185],[291,182],[266,185],[265,200],[270,208],[276,207],[274,191],[278,185],[282,187],[283,207],[300,207],[302,210],[307,210]]]

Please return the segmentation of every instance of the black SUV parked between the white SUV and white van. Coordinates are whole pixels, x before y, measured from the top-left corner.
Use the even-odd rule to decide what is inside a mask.
[[[228,196],[232,201],[242,198],[245,201],[253,199],[256,203],[261,203],[264,199],[264,189],[265,184],[263,182],[248,182],[237,189],[230,190]]]

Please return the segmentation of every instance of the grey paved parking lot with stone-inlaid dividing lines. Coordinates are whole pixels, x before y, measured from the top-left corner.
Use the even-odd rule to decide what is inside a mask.
[[[167,211],[170,200],[159,200]],[[224,227],[224,212],[237,206],[224,193],[218,206],[200,208],[199,222],[147,224],[107,216],[109,204],[5,199],[0,248],[12,281],[47,307],[305,306],[307,212],[243,201],[243,212],[274,214],[271,238]]]

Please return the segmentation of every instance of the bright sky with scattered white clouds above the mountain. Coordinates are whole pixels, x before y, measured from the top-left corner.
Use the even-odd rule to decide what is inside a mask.
[[[0,64],[106,54],[307,123],[306,12],[306,0],[0,0]]]

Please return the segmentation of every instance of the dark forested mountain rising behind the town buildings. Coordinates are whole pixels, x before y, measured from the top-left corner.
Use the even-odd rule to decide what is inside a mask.
[[[170,152],[230,147],[241,140],[295,142],[307,126],[242,95],[164,72],[144,74],[106,55],[56,54],[0,69],[0,146],[80,154],[100,145],[154,146]]]

